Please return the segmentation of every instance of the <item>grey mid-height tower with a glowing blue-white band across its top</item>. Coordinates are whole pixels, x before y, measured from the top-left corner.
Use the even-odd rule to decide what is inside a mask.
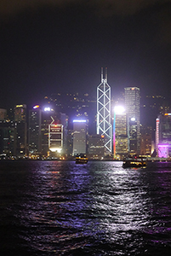
[[[73,120],[72,155],[87,153],[87,122],[84,119]]]

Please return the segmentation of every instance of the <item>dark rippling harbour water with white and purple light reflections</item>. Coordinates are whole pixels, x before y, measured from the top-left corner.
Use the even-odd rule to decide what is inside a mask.
[[[171,255],[171,166],[0,161],[0,255]]]

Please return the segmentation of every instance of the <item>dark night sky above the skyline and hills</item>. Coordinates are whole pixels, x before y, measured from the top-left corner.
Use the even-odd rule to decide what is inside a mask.
[[[1,0],[0,17],[0,108],[95,96],[101,67],[111,95],[170,94],[171,1]]]

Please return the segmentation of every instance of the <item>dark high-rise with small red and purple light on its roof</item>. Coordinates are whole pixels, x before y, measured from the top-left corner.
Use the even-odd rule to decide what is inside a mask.
[[[29,111],[28,145],[31,156],[41,154],[42,110],[39,106]]]

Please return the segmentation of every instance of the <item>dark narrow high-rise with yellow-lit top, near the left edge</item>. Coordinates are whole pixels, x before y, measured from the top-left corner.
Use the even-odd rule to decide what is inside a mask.
[[[27,141],[27,124],[26,124],[26,105],[16,105],[14,107],[14,121],[17,123],[16,131],[16,155],[26,155],[26,141]]]

